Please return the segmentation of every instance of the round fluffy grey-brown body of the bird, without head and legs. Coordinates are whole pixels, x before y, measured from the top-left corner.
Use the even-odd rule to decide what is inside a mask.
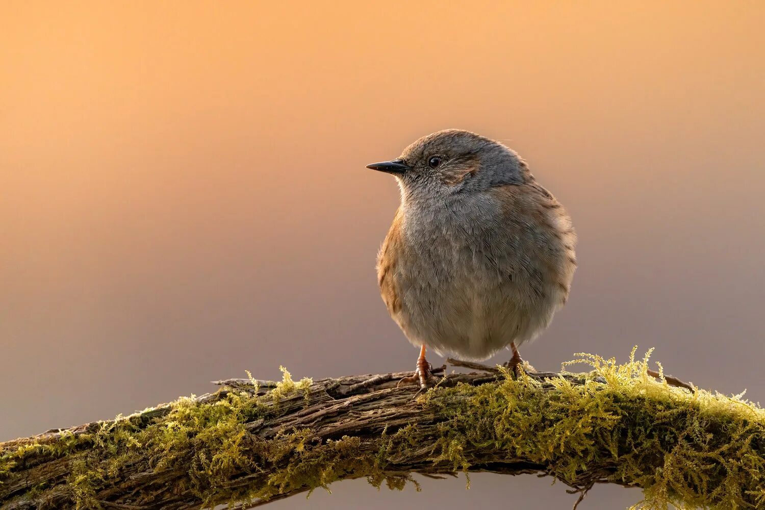
[[[573,241],[552,221],[565,214],[554,199],[526,191],[399,208],[378,275],[412,343],[485,359],[549,324],[568,296]]]

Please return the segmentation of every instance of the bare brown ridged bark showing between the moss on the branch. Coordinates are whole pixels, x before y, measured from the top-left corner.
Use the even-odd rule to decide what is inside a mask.
[[[454,387],[457,383],[481,385],[496,382],[504,376],[498,369],[474,363],[456,362],[468,369],[479,372],[451,373],[444,375],[445,367],[435,369],[435,375],[441,378],[441,387]],[[419,391],[415,385],[397,388],[399,379],[407,373],[388,373],[379,375],[352,375],[340,378],[326,378],[312,382],[302,391],[294,391],[278,401],[278,413],[269,418],[258,418],[245,424],[246,433],[251,440],[268,441],[285,430],[310,430],[308,443],[325,444],[327,440],[340,440],[349,436],[360,439],[360,452],[374,455],[379,449],[379,438],[383,431],[390,433],[401,427],[415,425],[415,435],[412,447],[404,452],[396,453],[386,459],[384,476],[391,479],[404,479],[410,473],[420,473],[424,476],[455,476],[454,462],[441,459],[435,460],[432,454],[432,444],[438,438],[438,424],[449,418],[440,414],[437,407],[423,407],[415,400]],[[568,378],[573,384],[580,381],[577,376],[547,372],[530,372],[529,375],[542,382],[542,388],[552,388],[545,383],[549,378]],[[210,404],[226,398],[229,392],[246,391],[250,394],[266,395],[278,387],[278,383],[257,381],[252,379],[226,379],[216,382],[223,388],[213,394],[196,398],[201,404]],[[681,384],[685,384],[679,382]],[[266,401],[265,405],[269,405]],[[274,404],[276,405],[276,404]],[[144,411],[135,415],[133,420],[138,427],[156,423],[158,418],[171,411],[170,404]],[[65,440],[70,437],[76,441],[82,434],[93,434],[103,430],[105,422],[94,422],[70,429],[48,430],[37,437],[13,440],[0,443],[0,452],[11,451],[31,443],[50,443]],[[107,424],[109,422],[106,422]],[[74,448],[63,455],[58,452],[38,451],[30,458],[25,458],[23,465],[15,466],[5,482],[0,484],[0,508],[3,510],[21,510],[32,508],[74,508],[71,476],[76,469],[78,460],[88,454],[88,450]],[[101,454],[103,455],[103,453]],[[508,456],[501,450],[490,447],[466,447],[462,452],[468,461],[467,470],[470,472],[490,472],[518,475],[537,473],[540,476],[552,475],[560,478],[553,466],[545,463],[530,462],[522,456]],[[274,466],[276,468],[276,466]],[[2,466],[0,466],[2,468]],[[193,491],[177,491],[188,476],[184,470],[151,469],[146,463],[135,462],[123,465],[119,476],[100,484],[89,495],[88,501],[102,505],[103,508],[200,508],[203,499]],[[563,480],[572,487],[572,492],[581,492],[598,482],[620,483],[609,476],[614,473],[613,460],[593,461],[575,479]],[[267,469],[266,469],[267,471]],[[2,474],[2,473],[0,473]],[[252,486],[262,483],[268,477],[268,472],[244,473],[234,472],[230,476],[227,489],[237,486]],[[369,476],[369,473],[347,472],[340,479]],[[2,479],[2,478],[0,478]],[[626,484],[624,484],[626,485]],[[37,489],[34,489],[37,487]],[[298,486],[273,495],[269,500],[256,499],[246,504],[239,503],[234,508],[250,508],[263,505],[269,501],[284,499],[299,492],[305,492],[311,487]]]

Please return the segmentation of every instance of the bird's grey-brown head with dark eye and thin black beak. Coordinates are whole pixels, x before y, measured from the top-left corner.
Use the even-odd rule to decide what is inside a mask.
[[[462,129],[424,136],[399,158],[367,168],[396,177],[405,198],[479,193],[504,184],[522,184],[529,177],[515,151]]]

